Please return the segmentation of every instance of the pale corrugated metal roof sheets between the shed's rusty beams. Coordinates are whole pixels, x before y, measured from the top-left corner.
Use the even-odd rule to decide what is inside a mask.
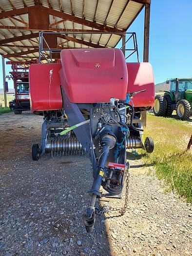
[[[11,11],[13,9],[34,6],[35,2],[38,2],[40,5],[44,7],[52,8],[65,14],[74,15],[75,17],[89,20],[92,22],[94,21],[98,24],[102,24],[119,30],[127,29],[129,25],[132,23],[132,21],[135,19],[135,17],[138,15],[141,8],[143,7],[143,4],[139,3],[139,1],[137,2],[136,0],[0,0],[0,12],[6,12]],[[50,24],[62,20],[61,18],[58,18],[53,15],[50,15],[49,19]],[[19,20],[23,21],[24,23]],[[25,23],[28,22],[28,14],[21,14],[14,17],[0,19],[1,26],[25,27]],[[53,28],[93,30],[92,27],[85,26],[70,20],[65,20],[61,23],[58,23],[57,25],[53,26]],[[38,31],[23,30],[19,28],[0,29],[0,40],[14,38],[37,32]],[[88,43],[94,43],[109,48],[115,47],[119,39],[121,38],[120,35],[115,34],[76,34],[69,36],[75,37],[76,39],[84,40]],[[79,42],[66,41],[66,39],[61,38],[58,38],[58,45],[62,45],[63,47],[89,47],[88,45],[84,45]],[[25,47],[22,48],[21,46]],[[0,41],[0,54],[6,55],[35,49],[31,46],[36,46],[37,53],[34,52],[27,54],[27,56],[29,57],[28,59],[22,58],[20,56],[10,57],[9,59],[34,59],[38,57],[38,38],[9,42],[6,44],[6,46],[2,46]]]

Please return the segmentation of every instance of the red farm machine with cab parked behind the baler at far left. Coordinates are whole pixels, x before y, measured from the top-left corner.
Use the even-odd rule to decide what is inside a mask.
[[[6,64],[11,64],[11,76],[14,82],[14,99],[9,102],[9,107],[16,115],[22,111],[30,110],[29,101],[29,65],[36,63],[35,61],[7,61]]]

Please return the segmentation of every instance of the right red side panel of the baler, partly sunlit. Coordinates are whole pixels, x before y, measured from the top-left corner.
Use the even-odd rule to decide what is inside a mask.
[[[134,107],[154,106],[154,73],[149,62],[128,62],[128,87],[127,93],[146,89],[146,92],[134,95]]]

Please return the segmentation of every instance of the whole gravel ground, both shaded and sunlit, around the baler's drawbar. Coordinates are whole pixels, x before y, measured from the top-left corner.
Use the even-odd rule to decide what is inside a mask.
[[[41,123],[27,112],[0,116],[0,256],[192,255],[192,205],[165,194],[139,160],[131,160],[126,214],[96,216],[87,234],[82,213],[90,162],[80,156],[33,161]],[[123,199],[100,204],[122,207]]]

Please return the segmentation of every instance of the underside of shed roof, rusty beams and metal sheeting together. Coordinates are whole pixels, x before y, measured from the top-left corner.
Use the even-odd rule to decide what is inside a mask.
[[[5,32],[0,33],[0,54],[14,60],[23,54],[38,58],[39,31],[65,33],[55,39],[55,48],[115,47],[141,10],[149,9],[151,0],[70,0],[65,5],[60,0],[8,2],[9,6],[0,4],[0,30]],[[82,34],[69,34],[71,31]],[[98,32],[102,34],[96,35]]]

